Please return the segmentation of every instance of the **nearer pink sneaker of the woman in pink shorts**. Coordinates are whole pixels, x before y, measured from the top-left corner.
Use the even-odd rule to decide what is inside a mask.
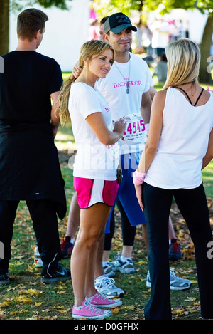
[[[90,305],[90,303],[86,300],[82,302],[82,308],[80,308],[80,310],[75,308],[75,306],[72,308],[72,318],[77,319],[104,319],[109,317],[111,314],[111,310],[96,308],[95,306]]]

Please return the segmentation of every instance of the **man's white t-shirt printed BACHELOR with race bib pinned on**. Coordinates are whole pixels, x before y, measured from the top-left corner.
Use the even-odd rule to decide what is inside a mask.
[[[151,85],[148,65],[138,56],[130,53],[127,63],[114,62],[107,77],[96,83],[97,89],[106,98],[113,120],[124,118],[126,132],[119,140],[121,154],[139,152],[146,142],[146,130],[141,117],[141,101]],[[129,83],[129,94],[126,93]]]

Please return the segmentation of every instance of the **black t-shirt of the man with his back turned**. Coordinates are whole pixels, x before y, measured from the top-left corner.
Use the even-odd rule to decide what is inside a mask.
[[[60,90],[62,73],[53,59],[35,51],[12,51],[0,75],[0,121],[50,121],[50,94]]]

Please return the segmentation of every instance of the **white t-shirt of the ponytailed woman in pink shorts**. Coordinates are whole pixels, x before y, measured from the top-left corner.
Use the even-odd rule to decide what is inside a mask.
[[[119,145],[104,145],[87,123],[87,116],[103,113],[112,130],[111,112],[107,101],[86,83],[73,83],[68,105],[73,135],[77,145],[73,175],[89,179],[115,180],[119,165]]]

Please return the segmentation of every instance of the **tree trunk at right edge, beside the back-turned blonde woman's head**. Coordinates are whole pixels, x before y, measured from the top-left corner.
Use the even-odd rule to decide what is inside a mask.
[[[200,83],[213,83],[212,75],[209,73],[210,62],[210,49],[212,45],[212,33],[213,33],[213,16],[209,16],[207,19],[207,24],[204,28],[204,33],[202,36],[202,42],[200,44],[201,62],[200,62]],[[213,58],[212,58],[213,60]]]

